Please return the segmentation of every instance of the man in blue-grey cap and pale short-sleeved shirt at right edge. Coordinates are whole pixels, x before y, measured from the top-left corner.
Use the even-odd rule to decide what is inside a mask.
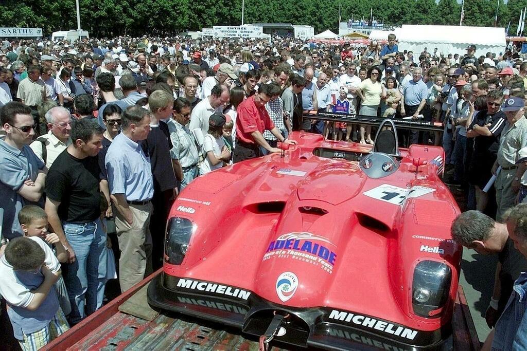
[[[507,116],[508,124],[503,128],[497,158],[492,167],[492,173],[497,176],[496,188],[497,213],[496,220],[502,220],[507,209],[514,206],[516,194],[520,190],[520,178],[526,167],[523,163],[516,165],[518,152],[527,146],[527,120],[523,116],[525,107],[523,99],[511,97],[505,100],[502,108]],[[501,171],[497,173],[498,167]]]

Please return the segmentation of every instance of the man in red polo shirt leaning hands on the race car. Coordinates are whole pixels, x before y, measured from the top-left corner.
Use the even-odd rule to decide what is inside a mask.
[[[264,135],[270,131],[279,142],[297,144],[294,140],[285,139],[275,124],[272,123],[265,108],[270,99],[280,95],[278,84],[262,84],[258,93],[245,99],[237,109],[236,117],[236,147],[233,150],[233,161],[240,162],[260,156],[259,147],[265,148],[269,153],[280,152],[277,147],[271,147]]]

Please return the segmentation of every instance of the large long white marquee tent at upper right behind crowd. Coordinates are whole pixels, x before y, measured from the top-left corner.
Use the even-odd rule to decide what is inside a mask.
[[[505,49],[505,29],[494,27],[403,25],[395,33],[399,51],[409,50],[419,55],[426,47],[428,52],[466,54],[469,44],[476,45],[476,56],[487,52],[499,54]]]

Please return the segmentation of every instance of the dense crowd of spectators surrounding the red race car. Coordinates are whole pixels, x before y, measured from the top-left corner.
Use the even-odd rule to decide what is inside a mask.
[[[515,48],[414,55],[391,34],[365,47],[144,36],[13,40],[1,50],[0,294],[24,349],[100,308],[115,264],[122,291],[162,265],[169,209],[194,178],[280,152],[296,144],[293,131],[374,142],[370,126],[312,121],[308,111],[443,123],[443,133],[411,131],[403,143],[441,145],[445,182],[478,211],[469,225],[502,235],[489,249],[489,236],[453,227],[467,247],[506,248],[490,324],[514,297],[525,258],[505,235],[516,247],[527,240],[524,207],[514,207],[527,195],[527,61]],[[496,345],[508,345],[509,329],[496,327]]]

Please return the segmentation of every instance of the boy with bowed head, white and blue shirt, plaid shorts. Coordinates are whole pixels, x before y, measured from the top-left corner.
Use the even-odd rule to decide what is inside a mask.
[[[0,295],[23,350],[38,350],[69,329],[53,288],[60,275],[58,260],[38,237],[14,238],[0,257]]]

